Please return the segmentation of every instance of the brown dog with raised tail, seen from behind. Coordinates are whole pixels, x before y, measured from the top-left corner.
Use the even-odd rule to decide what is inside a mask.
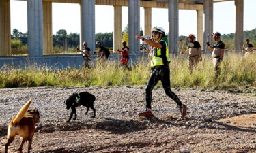
[[[35,123],[39,122],[40,118],[37,109],[29,110],[26,114],[31,102],[31,100],[27,101],[27,103],[20,109],[16,117],[12,118],[8,127],[5,153],[8,152],[8,146],[10,143],[12,143],[12,141],[14,141],[15,135],[19,135],[21,140],[18,150],[22,152],[23,144],[26,141],[29,141],[27,152],[30,152],[33,135],[35,133]]]

